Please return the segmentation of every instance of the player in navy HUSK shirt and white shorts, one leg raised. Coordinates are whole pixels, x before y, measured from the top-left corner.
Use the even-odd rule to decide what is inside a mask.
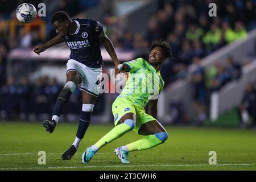
[[[81,84],[82,114],[76,139],[72,146],[61,156],[63,160],[70,160],[75,155],[79,143],[88,129],[94,102],[100,89],[102,76],[100,42],[112,58],[115,70],[117,70],[117,65],[120,63],[111,40],[106,36],[102,25],[96,20],[71,19],[64,11],[57,11],[53,14],[51,23],[57,35],[42,46],[35,46],[34,52],[40,55],[40,52],[46,51],[47,48],[65,42],[70,48],[71,54],[67,63],[66,84],[59,97],[57,97],[52,119],[43,121],[43,126],[50,134],[53,132],[69,97],[76,86]]]

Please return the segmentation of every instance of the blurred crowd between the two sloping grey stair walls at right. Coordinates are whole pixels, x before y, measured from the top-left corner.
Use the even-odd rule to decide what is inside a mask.
[[[232,56],[227,57],[226,63],[215,63],[209,70],[201,66],[200,57],[193,58],[189,81],[193,85],[193,106],[199,116],[199,124],[209,116],[211,94],[241,76],[242,65]]]

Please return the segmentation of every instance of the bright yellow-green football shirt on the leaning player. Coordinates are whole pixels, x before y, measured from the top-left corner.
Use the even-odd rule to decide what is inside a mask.
[[[164,86],[160,71],[156,72],[155,68],[142,58],[123,64],[130,68],[129,77],[118,97],[126,97],[127,100],[143,108],[149,100],[158,99]]]

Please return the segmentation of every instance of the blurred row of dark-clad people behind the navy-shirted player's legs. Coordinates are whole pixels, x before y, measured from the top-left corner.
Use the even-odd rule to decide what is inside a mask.
[[[56,78],[49,79],[44,76],[30,81],[28,77],[21,77],[18,80],[9,77],[7,84],[2,86],[0,92],[0,118],[15,119],[19,117],[26,121],[47,119],[52,114],[61,89],[63,89],[63,85],[58,84]],[[80,98],[80,91],[77,89],[64,110],[65,115],[80,114]],[[19,114],[17,115],[17,113]]]

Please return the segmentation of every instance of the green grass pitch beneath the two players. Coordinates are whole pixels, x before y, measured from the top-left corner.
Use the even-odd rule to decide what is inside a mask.
[[[61,154],[75,139],[77,123],[59,123],[50,135],[41,123],[0,122],[0,170],[255,170],[256,130],[166,127],[170,137],[151,150],[131,152],[131,164],[121,164],[114,148],[138,140],[133,131],[101,148],[89,164],[81,154],[113,126],[91,125],[72,160]],[[46,165],[38,152],[46,152]],[[217,166],[209,165],[217,152]],[[222,165],[223,164],[223,165]],[[243,164],[243,165],[241,165]],[[249,165],[245,165],[249,164]]]

